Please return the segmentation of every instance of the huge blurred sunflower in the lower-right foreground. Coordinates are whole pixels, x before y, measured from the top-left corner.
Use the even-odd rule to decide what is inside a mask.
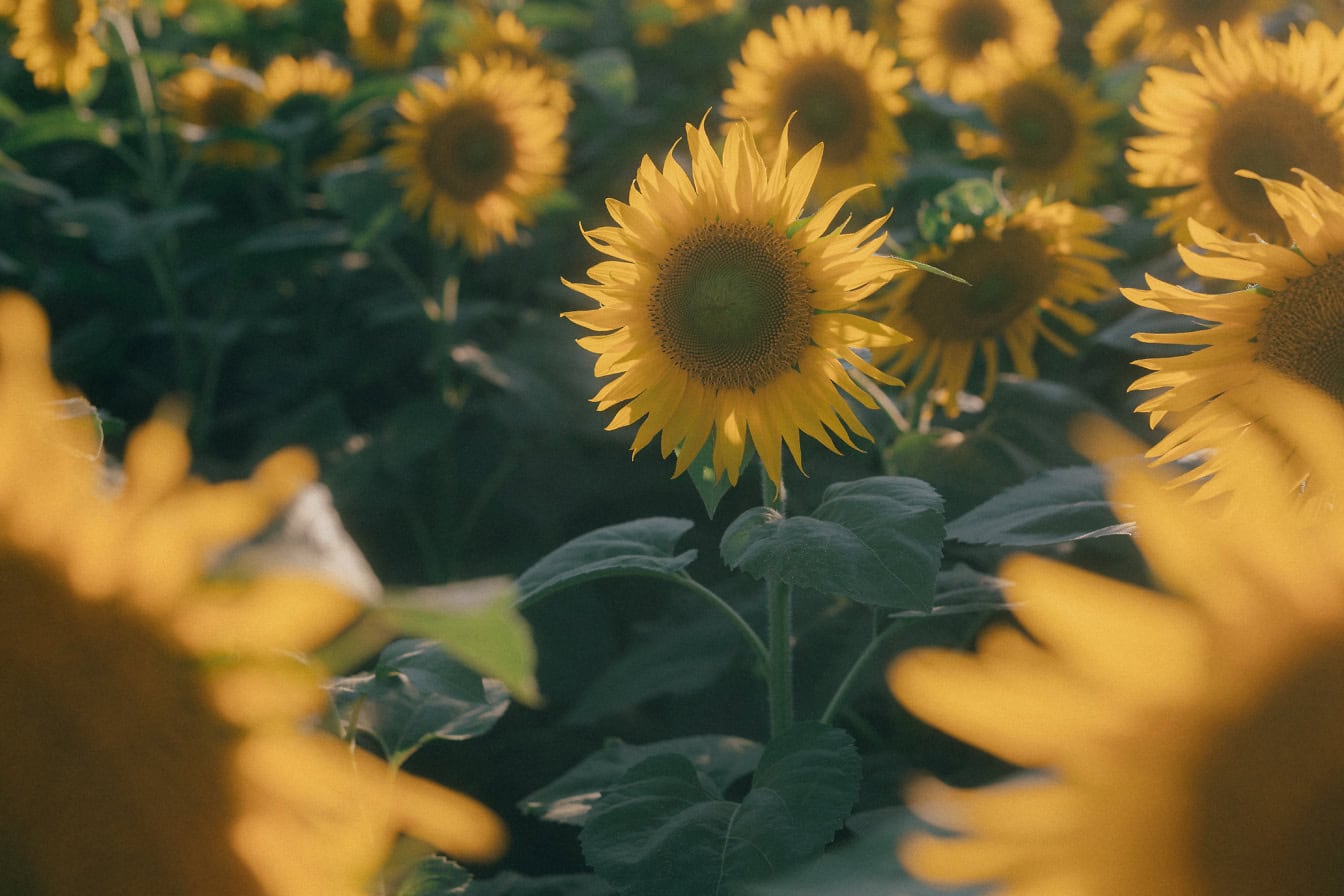
[[[1042,770],[917,783],[911,809],[958,834],[906,840],[917,876],[1020,896],[1344,892],[1344,517],[1309,512],[1278,467],[1290,443],[1337,498],[1344,414],[1292,382],[1245,398],[1278,439],[1254,433],[1220,474],[1239,505],[1191,502],[1137,465],[1111,486],[1156,590],[1020,556],[1000,575],[1025,634],[890,668],[915,715]]]

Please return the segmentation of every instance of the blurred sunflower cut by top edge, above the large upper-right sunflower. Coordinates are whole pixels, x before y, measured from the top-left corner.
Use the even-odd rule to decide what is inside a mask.
[[[1282,8],[1278,0],[1120,0],[1087,32],[1093,60],[1114,66],[1130,59],[1184,62],[1200,47],[1200,28],[1227,23],[1242,39],[1263,34],[1262,17]]]

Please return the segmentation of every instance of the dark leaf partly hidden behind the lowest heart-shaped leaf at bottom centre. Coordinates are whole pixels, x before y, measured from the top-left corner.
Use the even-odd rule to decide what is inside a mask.
[[[524,797],[517,806],[528,815],[546,821],[582,825],[598,797],[645,759],[683,756],[723,791],[732,782],[751,774],[761,759],[761,744],[754,740],[716,735],[677,737],[652,744],[628,744],[612,739],[547,786]]]

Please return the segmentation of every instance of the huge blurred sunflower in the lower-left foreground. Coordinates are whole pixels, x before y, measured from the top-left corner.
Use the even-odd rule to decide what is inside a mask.
[[[324,695],[300,656],[351,598],[207,574],[312,457],[207,485],[160,415],[113,489],[93,427],[52,412],[63,398],[40,309],[0,294],[0,892],[359,896],[398,832],[497,857],[488,809],[301,724]]]

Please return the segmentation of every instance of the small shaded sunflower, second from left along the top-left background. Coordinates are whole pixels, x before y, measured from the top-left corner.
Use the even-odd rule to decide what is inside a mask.
[[[223,44],[208,60],[194,59],[163,87],[164,109],[185,125],[184,136],[202,141],[200,160],[231,168],[255,168],[278,157],[259,138],[230,136],[255,128],[270,111],[265,83]]]

